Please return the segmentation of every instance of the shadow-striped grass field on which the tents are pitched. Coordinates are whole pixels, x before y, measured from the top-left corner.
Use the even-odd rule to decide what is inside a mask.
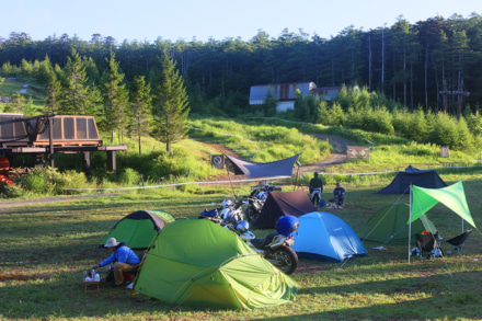
[[[482,223],[482,173],[441,174],[463,180],[477,225]],[[346,207],[325,209],[357,231],[383,205],[409,202],[409,195],[379,195],[391,180],[346,183]],[[285,185],[284,191],[291,186]],[[103,236],[125,215],[164,209],[196,218],[231,190],[221,186],[138,190],[118,196],[0,208],[0,319],[2,320],[480,320],[482,238],[474,231],[466,256],[412,260],[408,244],[365,242],[369,256],[343,266],[301,261],[292,278],[300,285],[296,302],[253,311],[208,310],[141,301],[129,290],[102,284],[85,294],[82,271],[108,255],[97,249]],[[330,190],[330,188],[329,188]],[[248,193],[238,187],[237,194]],[[325,194],[329,198],[330,195]],[[445,239],[461,232],[461,219],[437,205],[428,214]],[[469,226],[466,223],[466,228]],[[269,231],[253,230],[263,237]],[[382,245],[387,250],[375,250]],[[448,248],[445,248],[448,250]],[[162,273],[162,268],[160,268]]]

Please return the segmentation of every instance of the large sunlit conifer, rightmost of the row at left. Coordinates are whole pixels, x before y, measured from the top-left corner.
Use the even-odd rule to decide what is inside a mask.
[[[190,104],[184,81],[175,69],[175,62],[164,54],[160,85],[157,88],[157,102],[152,108],[152,130],[150,135],[165,142],[165,150],[171,152],[171,145],[181,140],[187,133],[185,124]]]

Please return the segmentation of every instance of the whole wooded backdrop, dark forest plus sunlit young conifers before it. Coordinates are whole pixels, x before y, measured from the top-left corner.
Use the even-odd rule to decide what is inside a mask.
[[[46,100],[13,93],[13,103],[3,112],[94,114],[112,139],[114,131],[119,137],[136,130],[140,135],[152,122],[149,113],[141,118],[133,114],[135,96],[142,90],[156,96],[167,54],[182,76],[191,114],[274,116],[275,102],[268,96],[262,106],[249,105],[254,84],[358,85],[359,91],[345,88],[330,102],[299,95],[295,111],[276,116],[472,152],[482,147],[481,39],[478,14],[435,16],[415,24],[400,16],[390,27],[364,32],[351,26],[330,39],[284,30],[277,38],[260,31],[249,42],[158,38],[117,44],[100,34],[91,41],[64,34],[34,42],[26,33],[12,32],[0,37],[0,81],[35,79]],[[448,113],[439,113],[444,89],[470,92],[463,96],[460,119],[455,117],[457,94],[448,94]]]

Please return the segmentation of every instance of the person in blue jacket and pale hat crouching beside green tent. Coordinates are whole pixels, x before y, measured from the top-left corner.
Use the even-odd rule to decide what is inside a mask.
[[[140,263],[139,257],[133,250],[130,250],[126,243],[117,242],[115,238],[111,238],[104,245],[108,248],[113,253],[110,257],[105,259],[99,264],[92,265],[92,268],[99,268],[114,263],[111,267],[107,267],[105,272],[114,271],[115,283],[113,286],[122,286],[124,284],[124,272],[130,272],[137,267]]]

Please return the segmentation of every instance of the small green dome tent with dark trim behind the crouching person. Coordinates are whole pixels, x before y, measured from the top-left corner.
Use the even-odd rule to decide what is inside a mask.
[[[102,244],[110,238],[118,242],[126,242],[134,250],[149,248],[159,231],[174,218],[161,209],[136,210],[120,219],[102,240]]]

